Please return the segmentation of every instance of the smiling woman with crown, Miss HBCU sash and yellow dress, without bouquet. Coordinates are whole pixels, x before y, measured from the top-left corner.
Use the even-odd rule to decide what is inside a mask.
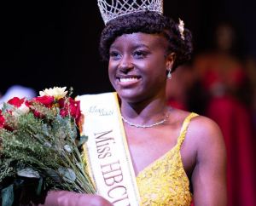
[[[163,16],[162,1],[109,2],[98,0],[106,23],[100,51],[116,93],[79,97],[84,155],[100,196],[54,192],[46,204],[189,206],[193,198],[195,206],[224,206],[218,126],[166,104],[166,81],[190,59],[190,31]]]

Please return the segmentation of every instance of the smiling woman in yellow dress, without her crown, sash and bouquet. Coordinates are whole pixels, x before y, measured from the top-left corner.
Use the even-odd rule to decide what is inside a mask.
[[[102,57],[119,97],[142,205],[226,205],[225,149],[216,123],[166,105],[166,81],[189,60],[191,34],[154,11],[119,16],[102,31]],[[45,205],[111,205],[49,192]]]

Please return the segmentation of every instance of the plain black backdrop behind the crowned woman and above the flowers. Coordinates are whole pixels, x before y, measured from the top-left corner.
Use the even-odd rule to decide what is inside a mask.
[[[210,49],[220,21],[235,26],[240,57],[256,57],[254,0],[165,1],[165,14],[184,20],[195,54]],[[13,84],[41,90],[73,86],[75,94],[112,90],[98,54],[103,21],[96,0],[2,1],[0,91]]]

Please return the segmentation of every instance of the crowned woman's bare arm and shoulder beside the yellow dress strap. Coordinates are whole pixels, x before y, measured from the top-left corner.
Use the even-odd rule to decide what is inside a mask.
[[[226,206],[226,152],[218,125],[207,117],[195,123],[196,164],[192,174],[195,206]]]

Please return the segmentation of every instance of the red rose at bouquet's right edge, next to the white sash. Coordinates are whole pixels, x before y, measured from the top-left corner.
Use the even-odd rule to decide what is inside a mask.
[[[58,103],[61,108],[61,117],[67,117],[68,113],[70,112],[71,117],[75,118],[76,123],[79,122],[79,118],[81,117],[80,101],[73,100],[71,97],[69,97],[68,100],[61,98]]]

